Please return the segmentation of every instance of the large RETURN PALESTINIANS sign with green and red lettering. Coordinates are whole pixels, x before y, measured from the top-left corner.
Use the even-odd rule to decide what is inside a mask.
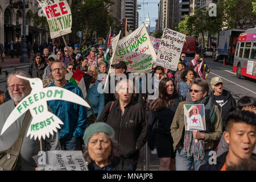
[[[113,64],[125,61],[127,72],[149,73],[156,60],[155,50],[144,23],[137,30],[118,41]]]

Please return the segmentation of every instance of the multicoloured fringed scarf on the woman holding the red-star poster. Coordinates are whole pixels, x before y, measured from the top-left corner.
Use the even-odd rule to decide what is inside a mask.
[[[205,133],[209,133],[209,128],[214,122],[215,110],[212,98],[205,97],[204,100],[193,102],[190,101],[190,104],[204,104],[205,110]],[[198,139],[198,142],[195,142],[193,138],[192,131],[185,131],[184,136],[184,152],[187,152],[187,156],[190,158],[193,156],[195,161],[200,161],[201,164],[204,162],[204,141],[203,139]]]

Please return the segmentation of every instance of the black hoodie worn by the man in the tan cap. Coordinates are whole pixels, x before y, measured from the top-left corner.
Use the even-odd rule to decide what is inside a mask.
[[[220,106],[214,99],[213,93],[214,90],[210,93],[210,97],[212,98],[214,105],[218,106],[218,109],[220,110],[222,119],[222,131],[225,131],[225,117],[226,115],[228,115],[228,113],[236,109],[236,100],[234,100],[234,98],[232,97],[228,90],[223,89],[222,96],[224,96],[224,105]]]

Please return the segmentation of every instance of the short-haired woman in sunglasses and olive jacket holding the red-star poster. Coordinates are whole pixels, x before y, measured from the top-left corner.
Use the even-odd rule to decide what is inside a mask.
[[[199,167],[207,163],[212,157],[213,152],[211,151],[213,151],[214,142],[220,140],[222,135],[220,111],[213,104],[212,98],[208,96],[207,81],[196,78],[192,81],[189,92],[191,93],[191,101],[180,102],[171,124],[177,171],[189,171],[192,164],[195,171],[199,170]],[[204,104],[206,125],[204,131],[185,131],[184,104]]]

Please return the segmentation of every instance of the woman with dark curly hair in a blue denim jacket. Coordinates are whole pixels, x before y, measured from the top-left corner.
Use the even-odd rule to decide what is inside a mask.
[[[181,73],[181,82],[178,86],[178,93],[180,95],[180,100],[181,101],[189,101],[191,100],[190,93],[188,92],[189,89],[191,88],[191,82],[195,78],[195,71],[192,68],[186,68],[182,73]]]

